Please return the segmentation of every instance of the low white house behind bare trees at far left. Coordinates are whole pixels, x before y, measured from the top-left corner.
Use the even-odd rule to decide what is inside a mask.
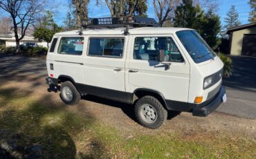
[[[37,41],[34,39],[34,37],[28,37],[25,36],[23,39],[21,39],[20,44],[24,43],[35,43],[38,46],[47,47],[47,43],[42,41]],[[6,47],[16,46],[15,36],[12,34],[8,35],[0,35],[0,45],[4,45]]]

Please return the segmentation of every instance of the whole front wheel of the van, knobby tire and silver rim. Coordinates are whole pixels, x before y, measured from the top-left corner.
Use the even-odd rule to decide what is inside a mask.
[[[155,97],[140,98],[135,105],[135,114],[138,122],[144,127],[157,129],[167,119],[167,111]]]

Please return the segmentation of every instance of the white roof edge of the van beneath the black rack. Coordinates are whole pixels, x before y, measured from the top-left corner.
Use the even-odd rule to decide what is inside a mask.
[[[124,31],[126,28],[89,28],[84,29],[84,35],[124,35]],[[156,28],[156,27],[141,27],[141,28],[129,28],[129,35],[163,35],[163,34],[173,34],[179,30],[191,30],[189,28]],[[55,34],[58,35],[78,35],[79,30],[72,30],[67,32],[59,32]]]

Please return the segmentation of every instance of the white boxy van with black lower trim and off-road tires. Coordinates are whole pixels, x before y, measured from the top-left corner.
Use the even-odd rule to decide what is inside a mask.
[[[138,122],[156,129],[168,110],[207,116],[226,102],[223,62],[195,30],[134,26],[54,35],[47,82],[64,103],[91,94],[134,104]]]

